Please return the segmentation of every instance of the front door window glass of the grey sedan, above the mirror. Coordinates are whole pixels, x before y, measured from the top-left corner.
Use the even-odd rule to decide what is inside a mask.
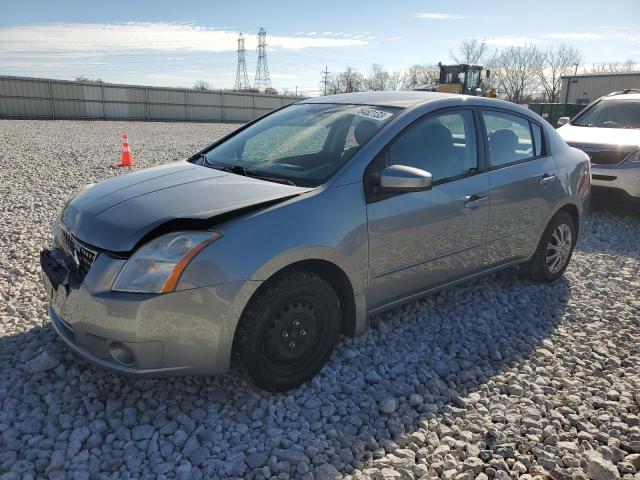
[[[473,112],[455,110],[417,120],[389,147],[388,165],[421,168],[434,182],[473,172],[478,168]]]

